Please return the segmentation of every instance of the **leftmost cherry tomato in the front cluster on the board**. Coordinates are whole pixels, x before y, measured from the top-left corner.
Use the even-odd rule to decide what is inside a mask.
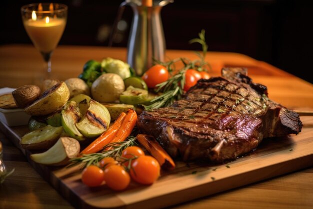
[[[82,170],[81,180],[87,186],[99,186],[104,181],[104,172],[95,165],[89,165]]]

